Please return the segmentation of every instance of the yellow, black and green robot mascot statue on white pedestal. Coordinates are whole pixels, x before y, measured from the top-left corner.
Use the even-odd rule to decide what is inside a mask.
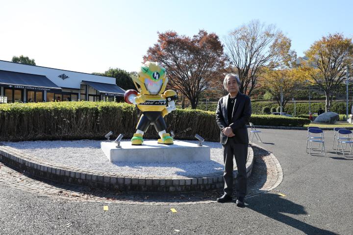
[[[131,144],[141,145],[143,143],[143,134],[150,124],[154,125],[160,136],[158,143],[173,144],[173,138],[166,132],[167,126],[163,117],[176,110],[177,95],[172,90],[164,92],[168,83],[166,69],[158,63],[147,61],[138,71],[137,77],[133,77],[132,80],[139,93],[135,90],[127,90],[124,99],[126,103],[137,105],[142,115]]]

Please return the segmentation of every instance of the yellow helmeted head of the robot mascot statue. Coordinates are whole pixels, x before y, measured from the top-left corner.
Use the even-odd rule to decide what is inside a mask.
[[[166,69],[157,62],[147,61],[132,80],[142,94],[162,94],[167,86]]]

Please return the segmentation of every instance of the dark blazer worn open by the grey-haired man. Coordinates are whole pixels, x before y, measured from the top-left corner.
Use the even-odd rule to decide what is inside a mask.
[[[251,117],[251,102],[248,95],[238,93],[234,103],[232,119],[228,120],[228,95],[223,96],[218,101],[216,111],[216,121],[221,129],[220,142],[226,144],[228,137],[223,135],[222,130],[230,126],[234,133],[235,143],[249,143],[248,129],[246,124],[249,123]]]

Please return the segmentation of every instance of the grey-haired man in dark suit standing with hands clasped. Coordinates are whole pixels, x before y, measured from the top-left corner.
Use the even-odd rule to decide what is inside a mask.
[[[240,80],[238,75],[228,73],[223,85],[228,93],[218,101],[216,120],[221,129],[221,143],[225,170],[224,195],[217,199],[218,202],[232,200],[233,192],[233,156],[238,168],[235,179],[237,193],[236,205],[244,207],[244,197],[247,190],[246,160],[248,156],[248,129],[246,124],[251,116],[251,102],[249,96],[239,92]]]

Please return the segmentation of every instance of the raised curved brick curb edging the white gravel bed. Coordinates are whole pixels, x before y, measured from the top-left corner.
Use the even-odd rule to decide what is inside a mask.
[[[223,174],[211,173],[194,177],[122,175],[98,170],[81,169],[29,156],[9,146],[0,145],[0,161],[25,170],[33,176],[92,188],[111,188],[121,191],[190,192],[223,188]],[[253,151],[248,147],[247,177],[252,173]],[[234,168],[234,178],[237,176]]]

